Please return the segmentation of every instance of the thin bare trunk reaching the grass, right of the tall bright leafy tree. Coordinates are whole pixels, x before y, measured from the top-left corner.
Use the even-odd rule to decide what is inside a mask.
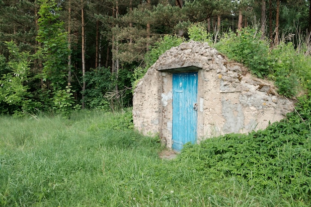
[[[84,103],[84,91],[85,91],[85,80],[84,80],[84,76],[85,76],[85,48],[84,48],[84,44],[85,44],[85,34],[84,34],[84,9],[83,9],[83,0],[81,0],[81,47],[82,47],[82,81],[83,81],[83,85],[82,85],[82,109],[85,108],[85,103]]]

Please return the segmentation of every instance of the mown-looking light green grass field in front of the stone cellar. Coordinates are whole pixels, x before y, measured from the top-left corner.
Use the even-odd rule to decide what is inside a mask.
[[[161,159],[158,138],[131,112],[0,117],[0,207],[291,207],[277,188],[197,170],[182,153]]]

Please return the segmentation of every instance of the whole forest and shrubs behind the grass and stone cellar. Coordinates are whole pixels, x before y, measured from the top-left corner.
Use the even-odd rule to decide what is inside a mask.
[[[0,114],[131,106],[137,80],[188,39],[287,97],[311,88],[310,0],[0,0],[0,14]]]

